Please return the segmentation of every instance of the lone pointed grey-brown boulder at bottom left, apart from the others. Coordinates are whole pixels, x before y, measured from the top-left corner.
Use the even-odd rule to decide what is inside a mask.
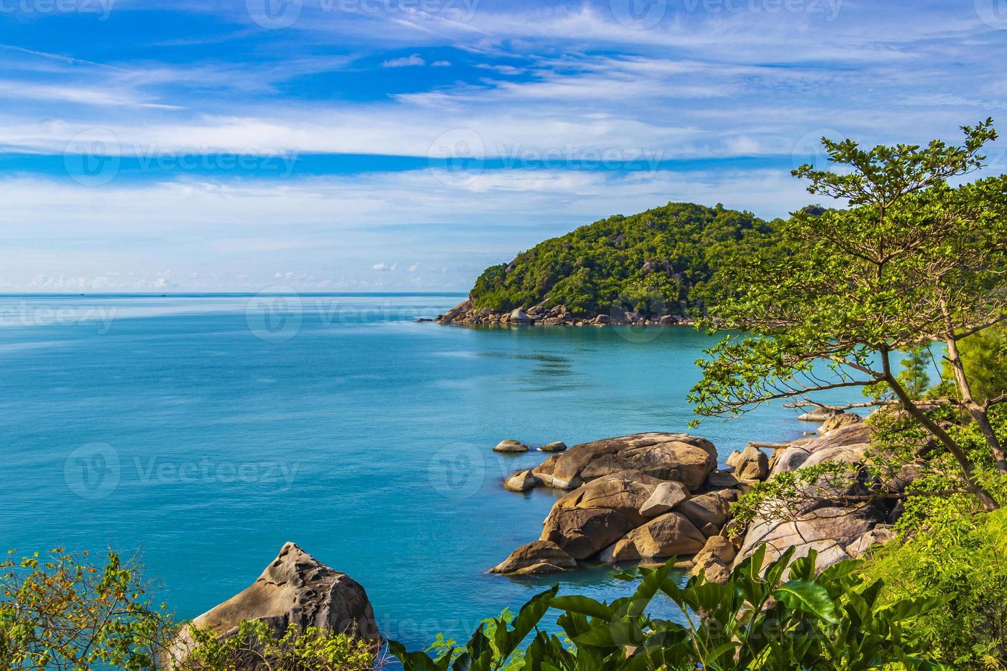
[[[218,638],[234,636],[245,621],[261,620],[277,634],[289,627],[315,627],[380,640],[368,595],[353,578],[329,568],[294,543],[280,553],[251,585],[191,623]],[[181,664],[194,646],[186,627],[168,654]]]

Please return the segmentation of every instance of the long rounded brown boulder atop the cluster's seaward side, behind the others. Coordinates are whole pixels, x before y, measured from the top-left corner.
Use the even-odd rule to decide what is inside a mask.
[[[637,470],[659,480],[698,489],[716,468],[717,450],[709,441],[688,434],[633,434],[575,445],[544,475],[546,485],[574,489],[584,482],[619,471]]]

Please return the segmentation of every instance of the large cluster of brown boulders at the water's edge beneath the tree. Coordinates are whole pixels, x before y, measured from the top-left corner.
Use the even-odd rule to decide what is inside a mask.
[[[718,469],[717,450],[688,434],[649,433],[575,445],[534,469],[506,479],[512,491],[569,490],[543,522],[538,540],[490,569],[506,574],[569,570],[584,562],[654,562],[676,556],[681,567],[726,580],[729,569],[760,544],[767,560],[787,547],[820,553],[819,568],[856,557],[891,537],[885,511],[837,502],[824,491],[794,514],[732,520],[731,504],[778,473],[825,462],[862,465],[871,430],[853,413],[830,414],[815,438],[731,454]],[[841,498],[841,497],[840,497]],[[688,557],[692,557],[689,559]]]

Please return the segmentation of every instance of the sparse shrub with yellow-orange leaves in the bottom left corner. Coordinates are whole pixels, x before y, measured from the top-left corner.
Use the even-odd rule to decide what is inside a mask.
[[[135,562],[62,548],[0,562],[0,668],[154,668],[167,628]]]

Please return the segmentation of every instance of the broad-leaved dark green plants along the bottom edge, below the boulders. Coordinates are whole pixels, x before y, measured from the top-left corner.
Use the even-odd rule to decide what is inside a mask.
[[[792,549],[760,570],[764,553],[761,547],[742,561],[726,584],[695,576],[680,586],[671,575],[674,559],[641,568],[635,592],[611,604],[558,597],[553,588],[510,624],[494,619],[491,633],[483,624],[464,648],[442,645],[435,658],[389,645],[406,671],[946,668],[930,661],[915,634],[943,599],[882,604],[883,582],[865,581],[859,561],[816,574],[816,553],[792,562]],[[686,624],[649,615],[659,595]],[[562,637],[539,628],[550,609],[560,612]]]

